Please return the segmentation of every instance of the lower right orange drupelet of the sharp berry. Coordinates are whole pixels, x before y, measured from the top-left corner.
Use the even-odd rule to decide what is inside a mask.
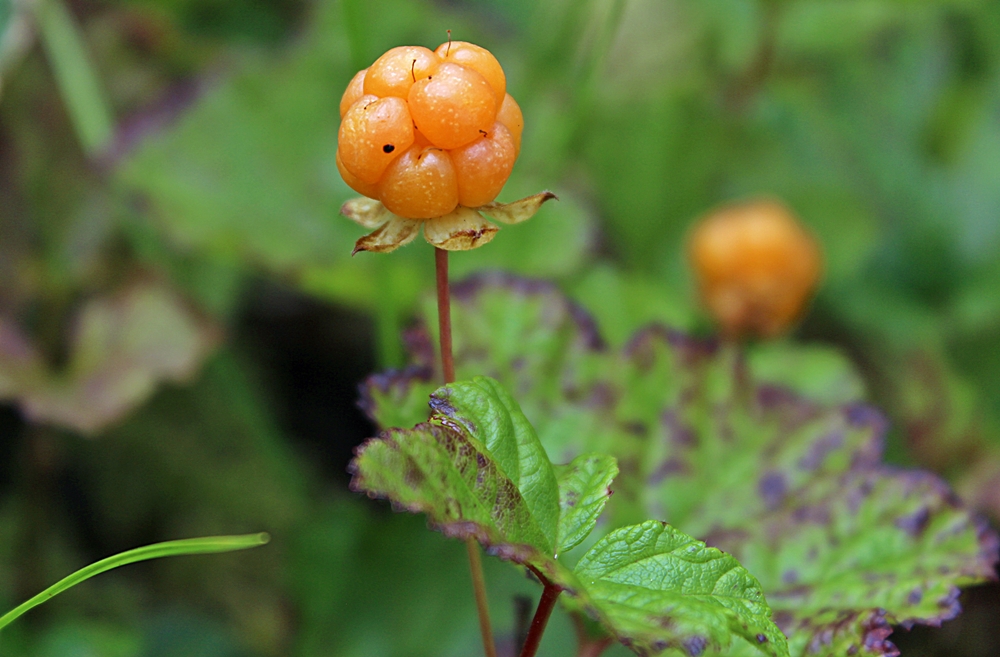
[[[458,202],[477,208],[495,199],[514,168],[514,138],[499,121],[471,144],[451,151],[458,177]]]

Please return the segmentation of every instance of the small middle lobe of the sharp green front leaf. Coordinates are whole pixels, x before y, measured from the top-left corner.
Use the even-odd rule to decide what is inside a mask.
[[[566,465],[555,467],[559,480],[559,553],[579,545],[597,524],[611,494],[611,480],[618,476],[618,463],[606,454],[581,454]]]

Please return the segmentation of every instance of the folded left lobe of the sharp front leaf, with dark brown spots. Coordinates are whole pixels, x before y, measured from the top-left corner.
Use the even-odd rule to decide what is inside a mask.
[[[427,514],[449,536],[473,536],[519,563],[553,565],[555,471],[520,409],[495,381],[439,389],[429,422],[390,429],[358,450],[352,488]]]

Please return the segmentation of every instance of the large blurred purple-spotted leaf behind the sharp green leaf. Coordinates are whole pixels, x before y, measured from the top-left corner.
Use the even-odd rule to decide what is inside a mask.
[[[459,375],[514,391],[560,460],[617,458],[605,530],[652,517],[739,559],[792,655],[894,654],[892,625],[939,624],[958,613],[957,587],[994,576],[995,535],[937,477],[882,465],[886,423],[860,401],[759,383],[736,350],[663,328],[609,350],[546,283],[455,289]],[[411,376],[370,379],[376,420],[426,415],[415,391],[427,394],[434,343],[417,331]]]

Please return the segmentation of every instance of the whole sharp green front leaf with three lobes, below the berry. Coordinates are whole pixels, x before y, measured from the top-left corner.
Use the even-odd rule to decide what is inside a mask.
[[[787,654],[756,580],[732,557],[663,523],[613,532],[576,574],[558,560],[597,522],[618,470],[612,457],[584,454],[553,467],[520,408],[486,377],[440,388],[430,406],[428,422],[390,429],[358,450],[355,490],[425,513],[446,535],[474,537],[529,566],[640,654],[700,654],[728,646],[733,633],[766,654]]]

